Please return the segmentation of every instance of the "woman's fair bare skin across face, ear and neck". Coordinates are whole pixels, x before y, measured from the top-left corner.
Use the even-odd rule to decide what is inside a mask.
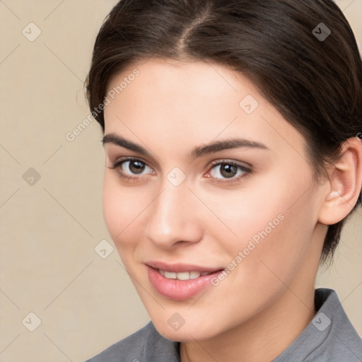
[[[105,144],[103,214],[124,267],[158,332],[182,342],[182,362],[271,361],[315,316],[322,243],[327,225],[356,203],[361,141],[351,139],[329,180],[316,185],[304,137],[241,74],[152,58],[117,74],[108,91],[134,69],[139,76],[105,107],[105,135],[150,153]],[[239,105],[246,95],[259,103],[250,115]],[[194,147],[236,136],[268,149],[189,158]],[[110,168],[127,156],[142,160],[144,170],[135,173],[127,162]],[[238,170],[230,179],[214,161],[234,161],[252,173]],[[177,187],[167,178],[175,167],[186,177]],[[284,220],[206,293],[171,300],[148,280],[150,260],[226,268],[279,214]],[[178,330],[168,324],[174,313],[185,320]]]

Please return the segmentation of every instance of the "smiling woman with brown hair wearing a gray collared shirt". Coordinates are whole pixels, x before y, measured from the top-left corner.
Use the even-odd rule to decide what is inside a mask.
[[[103,213],[150,317],[88,360],[362,361],[315,290],[361,203],[362,70],[329,0],[123,0],[95,41]]]

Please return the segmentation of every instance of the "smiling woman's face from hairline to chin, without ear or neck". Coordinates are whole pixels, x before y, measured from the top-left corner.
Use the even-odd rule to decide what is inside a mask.
[[[218,64],[149,59],[107,91],[105,223],[158,331],[307,308],[326,230],[303,136]]]

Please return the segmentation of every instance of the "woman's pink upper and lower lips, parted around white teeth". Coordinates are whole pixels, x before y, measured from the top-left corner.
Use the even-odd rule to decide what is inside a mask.
[[[153,288],[155,288],[161,296],[173,300],[187,300],[197,296],[197,294],[204,291],[204,289],[211,287],[211,279],[215,278],[223,270],[223,268],[216,270],[216,268],[199,267],[197,265],[165,264],[162,262],[146,263],[146,267],[148,269],[148,279]],[[199,276],[197,279],[178,280],[166,278],[160,274],[158,269],[174,271],[176,273],[182,271],[207,271],[211,272],[211,274]]]

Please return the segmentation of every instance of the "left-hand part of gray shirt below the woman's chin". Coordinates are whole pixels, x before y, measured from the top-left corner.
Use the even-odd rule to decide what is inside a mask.
[[[177,354],[177,342],[165,339],[150,321],[138,331],[85,362],[156,362],[160,360],[154,358],[162,355],[170,358],[165,361],[178,362]]]

